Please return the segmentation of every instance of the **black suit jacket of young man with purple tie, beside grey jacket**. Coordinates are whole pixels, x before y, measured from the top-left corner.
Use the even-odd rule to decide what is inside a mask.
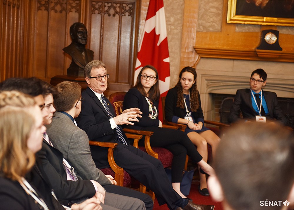
[[[54,144],[53,144],[54,145]],[[47,181],[52,186],[56,197],[62,200],[78,200],[83,197],[93,197],[95,187],[90,180],[68,181],[66,169],[63,165],[63,154],[43,140],[43,146],[36,153],[40,159],[39,168],[46,173]]]

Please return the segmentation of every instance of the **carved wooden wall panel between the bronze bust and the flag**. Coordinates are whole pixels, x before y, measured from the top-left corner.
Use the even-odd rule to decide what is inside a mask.
[[[136,8],[138,1],[90,1],[88,46],[110,74],[110,89],[128,90],[132,84]]]

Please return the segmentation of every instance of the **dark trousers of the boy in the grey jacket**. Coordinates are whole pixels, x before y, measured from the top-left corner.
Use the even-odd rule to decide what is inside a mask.
[[[107,192],[110,193],[138,198],[145,203],[146,209],[153,209],[153,200],[149,195],[145,193],[141,193],[127,187],[116,186],[114,184],[103,185],[103,187],[106,189]]]

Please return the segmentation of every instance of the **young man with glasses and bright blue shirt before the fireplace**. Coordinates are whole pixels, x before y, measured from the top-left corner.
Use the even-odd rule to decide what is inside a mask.
[[[243,121],[266,122],[276,119],[275,122],[286,125],[287,119],[278,104],[277,94],[262,90],[266,77],[263,69],[256,69],[250,77],[250,89],[237,90],[230,110],[230,123],[241,120],[239,115],[242,111]]]

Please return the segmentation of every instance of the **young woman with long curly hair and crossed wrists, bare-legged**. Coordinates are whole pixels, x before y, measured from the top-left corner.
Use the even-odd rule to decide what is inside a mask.
[[[187,125],[185,133],[197,146],[197,151],[203,160],[207,162],[207,144],[211,145],[214,155],[220,138],[203,125],[204,117],[196,77],[194,68],[187,66],[182,69],[178,83],[168,91],[166,96],[165,116],[167,121]],[[199,192],[208,194],[206,176],[199,174]]]

